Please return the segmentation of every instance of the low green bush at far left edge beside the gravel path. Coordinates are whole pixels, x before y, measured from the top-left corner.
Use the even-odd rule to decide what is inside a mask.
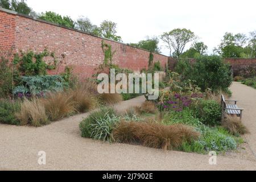
[[[0,100],[0,123],[8,125],[20,125],[15,113],[20,109],[18,101]]]

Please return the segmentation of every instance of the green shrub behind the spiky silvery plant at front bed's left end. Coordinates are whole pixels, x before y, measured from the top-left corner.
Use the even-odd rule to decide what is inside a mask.
[[[117,115],[113,108],[104,107],[101,110],[94,111],[89,117],[85,118],[79,125],[82,137],[91,138],[93,130],[90,125],[97,123],[99,119],[106,119],[106,114]]]

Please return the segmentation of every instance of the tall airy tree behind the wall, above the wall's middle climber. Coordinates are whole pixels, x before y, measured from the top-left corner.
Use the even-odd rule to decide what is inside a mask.
[[[100,36],[108,39],[112,39],[115,41],[121,41],[121,36],[117,36],[117,23],[114,23],[109,20],[104,20],[100,24],[100,28],[97,30],[94,30],[94,33],[100,34]]]

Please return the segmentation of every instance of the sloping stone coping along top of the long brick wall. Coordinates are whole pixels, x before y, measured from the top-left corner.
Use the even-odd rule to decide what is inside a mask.
[[[109,40],[109,41],[111,41],[111,42],[123,44],[123,45],[125,45],[125,46],[133,47],[133,48],[136,48],[136,49],[142,49],[143,51],[150,52],[150,51],[148,51],[147,49],[143,49],[143,48],[139,48],[139,47],[135,47],[135,46],[130,46],[130,45],[128,45],[128,44],[125,44],[125,43],[122,43],[122,42],[118,42],[118,41],[115,41],[115,40],[112,40],[112,39],[102,38],[102,37],[100,37],[100,36],[92,35],[92,34],[89,34],[89,33],[86,33],[86,32],[80,31],[80,30],[77,30],[77,29],[75,29],[75,28],[68,28],[68,27],[65,27],[65,26],[61,26],[61,25],[58,24],[58,23],[49,22],[49,21],[46,21],[46,20],[43,20],[43,19],[36,18],[36,17],[34,17],[34,16],[30,16],[30,15],[25,15],[25,14],[22,14],[22,13],[18,13],[18,12],[16,12],[16,11],[7,10],[7,9],[2,8],[1,6],[0,6],[0,11],[6,12],[6,13],[10,13],[10,14],[14,14],[14,15],[18,15],[18,16],[23,16],[23,17],[25,17],[25,18],[33,19],[33,20],[36,20],[36,21],[38,21],[38,22],[43,22],[43,23],[51,24],[51,25],[53,25],[53,26],[57,26],[57,27],[61,27],[61,28],[66,28],[66,29],[68,29],[68,30],[80,32],[80,33],[82,33],[82,34],[87,34],[87,35],[90,35],[90,36],[94,36],[94,37],[99,38],[99,39]],[[162,55],[161,53],[157,53],[157,52],[152,52],[152,53],[155,53],[155,54],[161,55],[161,56],[165,56],[165,57],[169,57],[169,56],[166,56],[166,55]]]

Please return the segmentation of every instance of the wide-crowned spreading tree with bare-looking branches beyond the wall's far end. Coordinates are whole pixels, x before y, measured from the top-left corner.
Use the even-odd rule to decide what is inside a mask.
[[[170,32],[164,32],[164,34],[161,36],[161,39],[163,42],[168,44],[167,47],[174,49],[173,55],[180,57],[186,44],[195,39],[195,34],[191,30],[187,30],[185,28],[176,28]]]

